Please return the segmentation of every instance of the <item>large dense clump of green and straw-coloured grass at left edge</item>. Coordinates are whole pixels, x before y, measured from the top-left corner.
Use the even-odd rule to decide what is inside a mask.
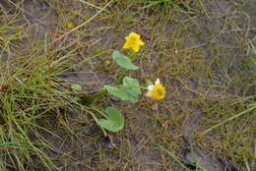
[[[20,60],[3,65],[6,72],[0,80],[1,168],[10,164],[26,170],[35,155],[50,170],[53,164],[34,133],[44,129],[37,124],[43,115],[54,114],[56,108],[67,104],[53,90],[56,73],[47,65],[45,55]]]

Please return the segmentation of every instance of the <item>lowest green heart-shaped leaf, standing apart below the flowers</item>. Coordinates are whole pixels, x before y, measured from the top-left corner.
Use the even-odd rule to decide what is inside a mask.
[[[124,117],[122,113],[114,107],[105,109],[106,119],[99,119],[98,124],[110,132],[119,132],[124,128]]]

